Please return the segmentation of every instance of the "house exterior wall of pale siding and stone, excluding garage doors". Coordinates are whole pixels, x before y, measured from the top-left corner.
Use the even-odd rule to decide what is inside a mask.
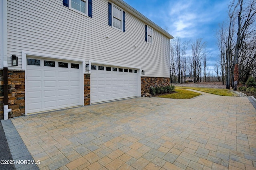
[[[108,25],[108,3],[116,3],[125,13],[125,32]],[[7,34],[0,30],[0,119],[3,119],[3,66],[8,61],[9,117],[25,114],[26,57],[43,57],[81,62],[83,66],[84,105],[90,105],[91,75],[86,63],[136,68],[138,96],[151,85],[166,85],[169,78],[170,36],[154,23],[120,0],[92,0],[92,18],[63,5],[63,0],[3,0]],[[150,25],[152,24],[152,25]],[[145,41],[145,25],[153,28],[152,43]],[[166,36],[167,35],[167,36]],[[108,38],[106,38],[108,36]],[[2,40],[2,39],[1,39]],[[3,43],[7,41],[6,47]],[[2,44],[1,44],[2,43]],[[4,43],[6,44],[6,43]],[[4,49],[4,50],[2,50]],[[6,52],[7,51],[7,52]],[[12,66],[11,56],[18,56]],[[5,62],[6,63],[6,62]],[[144,70],[144,77],[140,71]],[[141,78],[141,81],[140,81]],[[141,83],[141,84],[140,84]],[[81,89],[82,91],[82,89]],[[81,99],[82,100],[82,99]]]

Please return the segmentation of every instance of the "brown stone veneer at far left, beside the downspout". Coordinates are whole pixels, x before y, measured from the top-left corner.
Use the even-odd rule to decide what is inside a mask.
[[[0,70],[0,119],[4,119],[4,76]],[[25,114],[25,72],[8,71],[9,118]]]

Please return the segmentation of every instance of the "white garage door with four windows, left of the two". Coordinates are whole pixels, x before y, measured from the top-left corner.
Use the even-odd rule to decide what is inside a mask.
[[[81,63],[27,58],[26,113],[81,105]]]

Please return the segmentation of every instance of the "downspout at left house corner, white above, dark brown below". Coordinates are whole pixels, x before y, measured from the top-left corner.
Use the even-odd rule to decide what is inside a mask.
[[[8,62],[7,62],[7,0],[2,0],[2,14],[1,23],[2,31],[0,32],[1,37],[1,58],[3,59],[3,73],[4,73],[4,120],[8,119],[8,113],[12,109],[8,109]]]

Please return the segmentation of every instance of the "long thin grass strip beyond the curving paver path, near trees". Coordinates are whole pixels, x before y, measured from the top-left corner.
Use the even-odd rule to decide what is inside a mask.
[[[202,91],[202,92],[211,93],[211,94],[220,95],[220,96],[235,96],[235,94],[231,93],[231,91],[228,89],[211,89],[211,88],[203,88],[203,87],[179,87],[179,86],[176,86],[175,88],[193,89],[193,90]]]

